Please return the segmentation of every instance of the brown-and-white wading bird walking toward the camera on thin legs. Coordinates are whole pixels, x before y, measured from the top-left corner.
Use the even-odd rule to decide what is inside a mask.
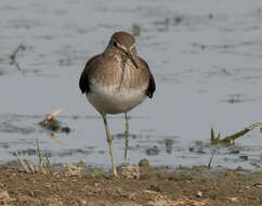
[[[147,63],[136,53],[134,37],[125,31],[115,33],[105,51],[88,61],[79,87],[104,119],[113,173],[117,177],[106,115],[125,113],[127,133],[127,113],[146,96],[153,98],[156,88]]]

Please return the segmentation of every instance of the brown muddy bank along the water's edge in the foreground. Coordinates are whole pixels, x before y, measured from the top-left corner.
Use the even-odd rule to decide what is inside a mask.
[[[0,203],[9,205],[262,205],[262,172],[141,164],[139,179],[83,164],[80,173],[26,173],[0,166]],[[118,168],[120,169],[120,168]]]

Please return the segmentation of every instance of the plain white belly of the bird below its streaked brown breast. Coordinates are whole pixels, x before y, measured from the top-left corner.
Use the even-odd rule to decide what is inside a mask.
[[[102,114],[126,113],[139,105],[146,98],[146,85],[140,89],[119,88],[92,83],[87,94],[89,102]]]

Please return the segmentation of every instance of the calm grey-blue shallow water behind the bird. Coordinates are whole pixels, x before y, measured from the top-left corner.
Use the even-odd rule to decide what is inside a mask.
[[[132,34],[139,25],[137,51],[150,66],[157,91],[129,114],[127,162],[207,165],[213,151],[208,144],[211,126],[227,136],[261,120],[261,8],[260,1],[245,0],[130,5],[119,0],[1,1],[0,163],[16,159],[15,151],[37,158],[38,139],[53,163],[109,167],[103,121],[81,95],[78,79],[87,60],[103,51],[114,31]],[[11,64],[19,44],[25,50]],[[61,106],[65,111],[57,119],[71,132],[55,133],[63,142],[57,144],[38,123]],[[108,121],[116,162],[125,163],[123,115]],[[234,147],[217,147],[212,164],[261,167],[261,138],[256,129]]]

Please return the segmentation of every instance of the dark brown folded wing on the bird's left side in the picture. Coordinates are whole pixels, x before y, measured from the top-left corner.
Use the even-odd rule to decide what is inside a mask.
[[[82,74],[79,79],[79,88],[82,93],[88,93],[90,91],[90,81],[89,81],[90,68],[97,59],[99,59],[99,55],[91,57],[86,64],[84,69],[82,70]]]

